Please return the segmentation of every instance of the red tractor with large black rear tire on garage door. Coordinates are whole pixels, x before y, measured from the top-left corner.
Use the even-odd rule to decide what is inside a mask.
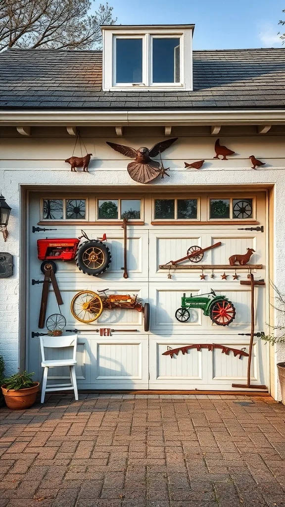
[[[84,231],[81,232],[79,238],[38,239],[38,259],[43,261],[43,273],[48,269],[53,269],[56,273],[56,260],[75,260],[78,269],[91,276],[97,276],[109,268],[112,256],[108,246],[98,239],[89,239]],[[81,241],[82,238],[85,241]],[[105,239],[104,234],[103,241]]]

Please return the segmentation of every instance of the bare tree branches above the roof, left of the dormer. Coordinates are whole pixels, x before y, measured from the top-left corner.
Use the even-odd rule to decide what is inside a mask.
[[[0,0],[0,49],[91,49],[101,44],[101,24],[114,24],[108,2]]]

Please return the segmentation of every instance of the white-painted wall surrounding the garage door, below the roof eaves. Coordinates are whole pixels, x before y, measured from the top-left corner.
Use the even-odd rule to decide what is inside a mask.
[[[108,138],[132,147],[153,146],[157,138]],[[221,143],[236,152],[228,161],[213,160],[216,137],[184,137],[165,152],[165,167],[170,177],[157,178],[148,187],[163,189],[171,186],[254,185],[268,184],[275,188],[274,215],[274,282],[285,294],[285,158],[283,136],[223,137]],[[70,186],[141,186],[127,173],[127,159],[106,146],[105,139],[85,139],[88,153],[92,153],[89,173],[71,173],[64,159],[70,157],[74,138],[2,138],[0,140],[0,190],[12,207],[9,221],[9,238],[0,238],[1,251],[14,256],[14,275],[1,279],[0,291],[0,354],[6,361],[7,374],[18,367],[19,330],[19,190],[21,185]],[[254,154],[266,162],[262,169],[252,170],[248,156]],[[201,170],[184,169],[184,161],[205,159]],[[35,224],[36,225],[36,224]],[[282,314],[276,312],[276,325],[282,323]],[[275,364],[285,361],[285,345],[276,346]],[[279,392],[272,393],[279,396]]]

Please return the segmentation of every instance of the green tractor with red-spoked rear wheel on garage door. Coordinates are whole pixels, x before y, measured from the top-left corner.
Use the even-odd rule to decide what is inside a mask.
[[[202,296],[210,296],[203,298]],[[179,322],[187,322],[190,318],[189,308],[201,308],[204,315],[217,325],[229,325],[235,318],[235,307],[225,296],[217,296],[211,288],[211,292],[201,296],[191,296],[186,298],[183,294],[181,298],[181,308],[175,312],[175,317]]]

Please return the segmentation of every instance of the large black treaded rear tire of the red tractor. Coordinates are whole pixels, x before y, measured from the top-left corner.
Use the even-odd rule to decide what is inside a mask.
[[[86,260],[89,249],[91,253],[93,249],[93,251],[96,252],[96,255],[100,256],[99,262],[101,262],[101,264],[99,267],[95,266],[96,262]],[[109,268],[111,258],[111,252],[107,245],[97,239],[90,239],[89,241],[84,241],[84,243],[79,245],[75,256],[75,262],[78,269],[86,275],[98,276]],[[86,265],[88,262],[90,266],[93,264],[93,268]]]

